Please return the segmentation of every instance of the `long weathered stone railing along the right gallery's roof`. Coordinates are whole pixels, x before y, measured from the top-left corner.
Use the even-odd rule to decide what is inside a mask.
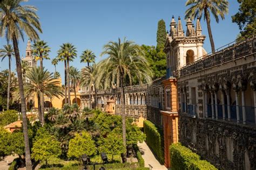
[[[179,76],[195,73],[203,69],[211,68],[222,63],[233,61],[241,57],[250,56],[256,52],[256,37],[239,42],[234,41],[221,48],[214,54],[207,54],[179,70]]]

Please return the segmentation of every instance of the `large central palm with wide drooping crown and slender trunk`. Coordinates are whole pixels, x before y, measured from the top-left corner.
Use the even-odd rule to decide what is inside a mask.
[[[123,143],[126,148],[125,79],[128,79],[130,84],[134,79],[137,79],[140,84],[150,83],[152,73],[143,49],[134,44],[133,41],[124,39],[122,42],[119,38],[117,42],[110,41],[103,48],[104,51],[101,55],[106,54],[108,58],[104,60],[101,72],[105,74],[106,80],[111,80],[105,81],[105,83],[110,83],[111,86],[116,84],[117,88],[121,88]],[[107,86],[105,84],[105,87]]]

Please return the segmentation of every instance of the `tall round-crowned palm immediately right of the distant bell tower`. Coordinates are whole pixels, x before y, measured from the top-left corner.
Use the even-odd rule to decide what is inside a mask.
[[[37,40],[35,44],[32,45],[32,52],[35,56],[36,61],[40,60],[40,68],[43,68],[43,60],[50,60],[49,52],[50,47],[47,45],[47,42],[43,40]],[[44,94],[39,94],[41,101],[41,114],[44,115]],[[39,107],[38,107],[39,110]],[[42,121],[43,123],[43,121]]]

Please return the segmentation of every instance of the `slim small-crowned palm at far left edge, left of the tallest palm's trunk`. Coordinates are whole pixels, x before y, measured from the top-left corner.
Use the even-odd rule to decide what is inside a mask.
[[[4,45],[3,49],[0,49],[0,57],[2,57],[2,61],[4,58],[9,59],[9,75],[8,75],[8,90],[7,90],[7,107],[6,109],[9,110],[10,105],[10,87],[11,87],[11,56],[14,55],[14,48],[11,45]]]

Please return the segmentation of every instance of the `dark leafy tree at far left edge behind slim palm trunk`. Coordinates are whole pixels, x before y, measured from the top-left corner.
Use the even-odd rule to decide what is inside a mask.
[[[15,73],[11,73],[11,83],[10,83],[10,108],[15,108],[16,105],[14,105],[15,101],[14,100],[14,91],[16,90],[16,87],[18,86],[18,80],[17,77],[15,76]],[[6,103],[8,100],[8,89],[9,86],[9,70],[2,70],[0,72],[0,110],[6,109]]]

